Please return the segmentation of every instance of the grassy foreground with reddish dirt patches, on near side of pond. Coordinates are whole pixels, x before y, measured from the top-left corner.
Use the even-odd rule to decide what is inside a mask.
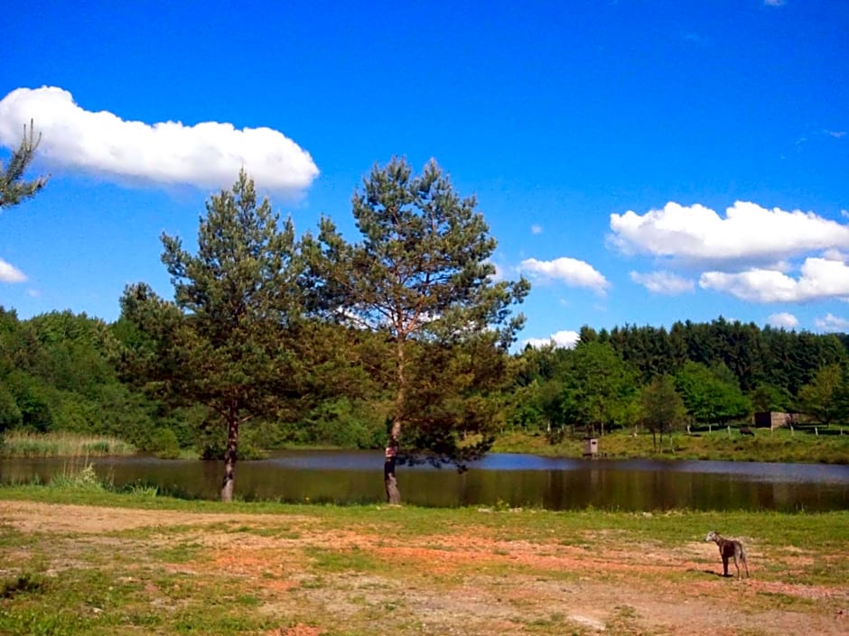
[[[742,539],[720,576],[708,530]],[[733,567],[732,567],[733,571]],[[849,512],[186,502],[0,488],[0,633],[846,633]]]

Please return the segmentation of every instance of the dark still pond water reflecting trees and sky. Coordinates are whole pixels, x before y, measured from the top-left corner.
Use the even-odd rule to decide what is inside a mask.
[[[116,486],[154,484],[163,492],[217,499],[219,462],[109,457],[93,460]],[[70,460],[12,459],[0,483],[42,483],[67,471]],[[237,465],[236,493],[247,500],[383,502],[382,454],[289,451]],[[589,506],[624,511],[779,510],[811,512],[849,507],[849,466],[750,462],[558,459],[493,454],[462,475],[450,467],[402,466],[405,501],[425,506]]]

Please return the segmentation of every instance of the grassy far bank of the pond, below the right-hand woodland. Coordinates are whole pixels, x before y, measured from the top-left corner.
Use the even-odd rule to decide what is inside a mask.
[[[740,429],[700,430],[692,435],[665,435],[663,447],[653,446],[650,433],[634,435],[617,430],[599,438],[599,452],[608,457],[664,457],[667,459],[711,459],[745,462],[803,462],[813,464],[849,464],[849,429],[752,429],[743,435]],[[658,438],[659,446],[659,438]],[[564,436],[551,444],[545,435],[522,432],[505,433],[492,449],[500,453],[530,453],[543,456],[580,457],[583,437]]]

